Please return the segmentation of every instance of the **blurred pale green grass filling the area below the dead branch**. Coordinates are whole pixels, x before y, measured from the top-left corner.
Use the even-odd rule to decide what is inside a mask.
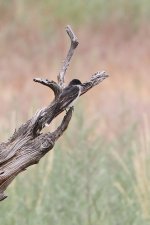
[[[113,141],[94,131],[76,115],[55,149],[9,187],[0,224],[149,225],[149,154],[136,126]]]

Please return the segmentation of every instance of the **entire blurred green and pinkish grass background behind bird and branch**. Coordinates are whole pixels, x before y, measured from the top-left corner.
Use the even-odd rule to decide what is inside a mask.
[[[67,24],[80,42],[67,82],[111,75],[80,99],[55,148],[9,187],[0,224],[150,224],[149,20],[148,0],[0,1],[1,140],[52,100],[32,79],[56,80]]]

